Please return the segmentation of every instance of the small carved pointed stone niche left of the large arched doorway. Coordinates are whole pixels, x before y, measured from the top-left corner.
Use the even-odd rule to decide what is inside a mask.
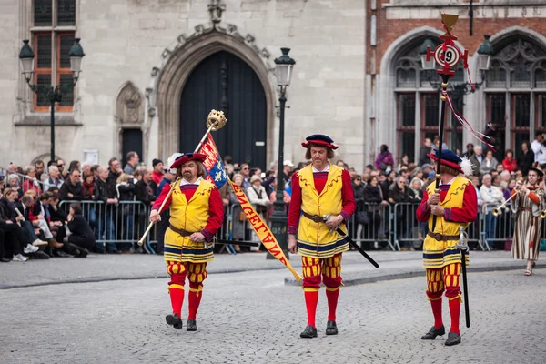
[[[145,99],[131,81],[120,87],[116,97],[114,120],[116,122],[117,157],[123,158],[123,135],[125,129],[142,131],[142,154],[147,156],[147,135],[149,127],[145,125]]]

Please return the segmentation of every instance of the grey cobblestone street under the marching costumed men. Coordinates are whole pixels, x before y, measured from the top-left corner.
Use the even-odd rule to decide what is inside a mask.
[[[11,263],[10,263],[11,264]],[[462,343],[422,341],[432,324],[423,278],[342,288],[338,336],[300,339],[302,291],[282,270],[210,274],[195,333],[165,323],[167,279],[1,291],[2,363],[539,363],[546,355],[546,269],[470,275]],[[445,301],[444,301],[445,302]],[[187,314],[187,302],[183,316]],[[449,327],[447,305],[444,318]]]

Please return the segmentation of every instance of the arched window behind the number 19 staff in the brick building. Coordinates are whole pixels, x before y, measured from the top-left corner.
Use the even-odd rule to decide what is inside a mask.
[[[409,46],[400,49],[395,63],[396,100],[397,100],[397,142],[398,158],[407,154],[410,161],[419,162],[416,156],[420,146],[415,145],[416,133],[420,133],[421,144],[425,138],[434,139],[439,133],[440,122],[440,84],[441,78],[436,70],[424,70],[420,61],[420,46],[424,38],[415,40]],[[432,40],[438,44],[438,40]],[[458,66],[455,76],[450,79],[452,85],[465,81],[466,72]],[[545,75],[546,76],[546,75]],[[452,95],[454,106],[462,113],[462,95]],[[462,126],[446,110],[444,142],[450,149],[462,150]]]

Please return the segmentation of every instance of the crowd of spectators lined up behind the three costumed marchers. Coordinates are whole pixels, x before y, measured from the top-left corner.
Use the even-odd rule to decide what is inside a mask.
[[[361,172],[349,167],[343,160],[335,163],[349,171],[357,203],[351,235],[366,240],[363,248],[385,248],[381,242],[399,239],[402,250],[413,250],[426,234],[426,226],[415,220],[415,207],[420,204],[425,188],[434,180],[434,165],[428,155],[437,148],[438,139],[425,139],[420,147],[417,162],[408,156],[395,162],[389,147],[380,147],[373,165]],[[444,146],[446,147],[446,146]],[[460,157],[473,165],[470,176],[479,198],[480,212],[485,215],[485,239],[495,248],[495,231],[498,219],[490,213],[494,207],[510,197],[516,180],[523,180],[528,167],[546,167],[546,135],[537,132],[532,143],[521,143],[515,153],[506,150],[499,161],[491,150],[483,151],[481,145],[467,145]],[[126,166],[114,157],[107,166],[72,161],[68,167],[62,159],[49,162],[41,160],[27,167],[10,164],[0,172],[0,258],[2,261],[25,261],[27,258],[86,257],[96,253],[139,253],[135,242],[139,238],[136,226],[147,224],[147,209],[175,174],[159,159],[151,167],[140,163],[136,152],[126,156]],[[248,163],[236,163],[224,158],[227,174],[241,187],[258,214],[269,221],[277,199],[277,162],[263,172]],[[288,211],[290,203],[290,177],[310,163],[283,161],[283,202]],[[257,241],[256,234],[240,209],[238,198],[223,187],[220,190],[227,211],[229,228],[225,238]],[[63,208],[61,201],[67,201]],[[79,201],[77,203],[76,201]],[[87,202],[102,202],[88,204]],[[142,204],[131,204],[130,201]],[[405,203],[402,205],[397,205]],[[396,206],[396,208],[395,208]],[[381,227],[388,218],[385,211],[396,215],[395,232]],[[168,217],[167,217],[168,218]],[[381,228],[380,228],[381,227]],[[396,234],[395,237],[389,234]],[[157,237],[157,253],[162,253],[162,238]],[[414,242],[418,244],[415,245]],[[103,243],[103,242],[106,242]],[[234,245],[236,251],[244,249]],[[259,248],[251,251],[260,251]]]

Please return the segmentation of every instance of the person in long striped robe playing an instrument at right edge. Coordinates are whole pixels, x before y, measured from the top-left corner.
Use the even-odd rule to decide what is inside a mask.
[[[541,211],[544,210],[544,189],[539,184],[544,173],[539,168],[527,168],[527,184],[521,179],[512,189],[511,210],[516,214],[514,240],[511,248],[511,258],[526,259],[527,268],[523,273],[532,276],[532,268],[539,259],[539,244],[541,241],[542,222]]]

